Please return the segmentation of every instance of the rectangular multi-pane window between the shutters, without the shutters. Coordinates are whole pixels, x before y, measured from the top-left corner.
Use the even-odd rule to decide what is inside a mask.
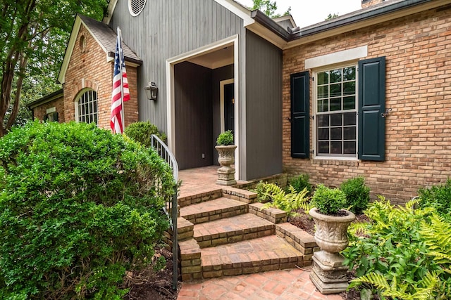
[[[357,65],[314,73],[316,156],[357,157]]]

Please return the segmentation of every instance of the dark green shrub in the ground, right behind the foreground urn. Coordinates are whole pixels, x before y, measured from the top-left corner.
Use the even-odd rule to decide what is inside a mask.
[[[346,194],[346,207],[350,211],[360,214],[369,203],[369,187],[365,185],[363,177],[350,178],[340,185],[340,190]]]

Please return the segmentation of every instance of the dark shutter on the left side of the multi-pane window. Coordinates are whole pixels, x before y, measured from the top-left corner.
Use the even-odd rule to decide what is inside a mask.
[[[309,158],[309,71],[291,74],[291,157]]]

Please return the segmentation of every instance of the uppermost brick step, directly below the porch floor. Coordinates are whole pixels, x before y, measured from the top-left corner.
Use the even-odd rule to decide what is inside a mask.
[[[180,216],[193,224],[199,224],[218,219],[247,214],[249,207],[246,203],[220,197],[218,199],[192,204],[180,208]]]

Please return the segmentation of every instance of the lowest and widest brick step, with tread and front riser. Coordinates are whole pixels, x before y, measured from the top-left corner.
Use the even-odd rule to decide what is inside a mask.
[[[276,235],[201,249],[203,278],[303,266],[303,255]]]

